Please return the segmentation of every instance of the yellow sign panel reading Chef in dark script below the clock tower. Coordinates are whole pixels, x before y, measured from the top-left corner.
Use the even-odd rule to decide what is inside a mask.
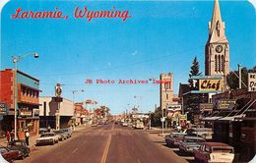
[[[199,90],[222,91],[222,80],[199,80]]]

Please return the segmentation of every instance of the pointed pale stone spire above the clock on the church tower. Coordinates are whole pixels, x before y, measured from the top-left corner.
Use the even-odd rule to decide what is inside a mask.
[[[224,35],[224,22],[222,20],[219,0],[215,0],[212,21],[209,22],[209,42],[226,42]]]

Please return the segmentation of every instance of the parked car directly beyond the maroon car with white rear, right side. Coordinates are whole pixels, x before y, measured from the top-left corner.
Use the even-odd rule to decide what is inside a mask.
[[[200,142],[205,142],[205,138],[200,136],[185,136],[184,140],[179,143],[179,150],[186,153],[193,153],[193,149],[200,147]]]

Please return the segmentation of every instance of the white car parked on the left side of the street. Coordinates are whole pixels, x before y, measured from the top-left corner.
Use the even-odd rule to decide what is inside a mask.
[[[36,138],[35,145],[41,144],[54,144],[58,143],[59,137],[56,136],[54,133],[44,133],[39,138]]]

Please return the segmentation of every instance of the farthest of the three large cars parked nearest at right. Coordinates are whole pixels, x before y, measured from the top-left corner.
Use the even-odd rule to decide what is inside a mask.
[[[170,135],[165,136],[165,142],[168,146],[177,146],[180,141],[187,136],[186,133],[172,133]]]

